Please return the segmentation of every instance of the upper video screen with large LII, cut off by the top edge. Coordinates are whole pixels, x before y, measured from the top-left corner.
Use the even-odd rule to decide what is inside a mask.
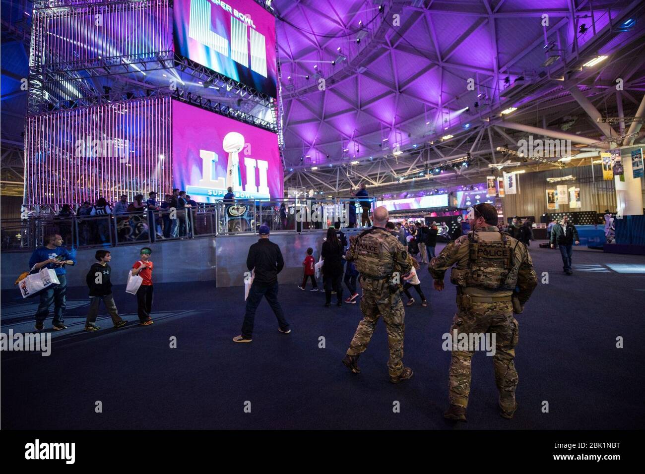
[[[175,52],[277,97],[275,17],[253,0],[175,0]]]

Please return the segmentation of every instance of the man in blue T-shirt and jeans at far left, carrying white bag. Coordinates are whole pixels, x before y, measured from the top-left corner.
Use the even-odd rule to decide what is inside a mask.
[[[67,281],[65,265],[75,265],[76,258],[72,253],[63,247],[63,237],[59,234],[45,236],[47,244],[44,247],[37,248],[29,259],[29,267],[35,270],[41,268],[51,268],[56,271],[59,284],[52,284],[40,293],[40,304],[35,313],[36,330],[41,331],[45,328],[45,319],[49,315],[49,308],[54,303],[54,321],[52,328],[54,331],[66,329],[63,323],[63,311],[65,310]]]

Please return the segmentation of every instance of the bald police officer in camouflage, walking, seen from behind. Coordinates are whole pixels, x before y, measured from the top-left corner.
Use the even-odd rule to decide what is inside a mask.
[[[411,266],[406,248],[385,228],[388,210],[382,206],[376,208],[372,218],[372,228],[354,239],[345,254],[347,261],[355,262],[361,273],[363,319],[342,363],[353,373],[360,373],[359,355],[367,349],[376,322],[382,316],[390,349],[390,381],[397,384],[412,377],[412,369],[404,367],[402,362],[405,311],[401,301],[401,280],[410,273]]]

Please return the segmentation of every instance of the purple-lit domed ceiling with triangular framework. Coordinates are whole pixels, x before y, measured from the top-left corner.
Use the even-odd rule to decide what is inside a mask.
[[[639,2],[278,0],[273,6],[285,188],[321,181],[326,191],[341,193],[361,181],[376,189],[400,181],[399,187],[415,187],[410,173],[468,152],[468,172],[433,181],[471,183],[505,159],[497,146],[511,148],[526,135],[515,124],[579,135],[586,144],[620,135],[617,124],[610,131],[593,121],[570,88],[610,117],[617,115],[617,77],[626,84],[625,115],[635,114],[645,90]],[[581,67],[599,55],[608,58]],[[500,112],[511,106],[517,110],[502,123]]]

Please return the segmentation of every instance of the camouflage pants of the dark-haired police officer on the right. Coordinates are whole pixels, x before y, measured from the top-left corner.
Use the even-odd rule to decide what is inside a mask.
[[[455,314],[450,334],[495,333],[495,384],[499,390],[500,402],[504,410],[515,407],[515,346],[519,337],[519,327],[513,318],[511,302],[472,303],[470,308],[459,308]],[[475,351],[453,348],[448,377],[448,397],[450,404],[468,406],[470,393],[470,361]]]

